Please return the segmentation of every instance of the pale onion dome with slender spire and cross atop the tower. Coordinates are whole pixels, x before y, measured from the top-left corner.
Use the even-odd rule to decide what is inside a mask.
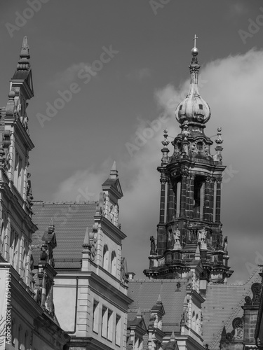
[[[205,124],[210,119],[210,107],[198,92],[198,72],[200,65],[198,64],[198,48],[196,48],[196,36],[194,37],[194,48],[191,49],[190,70],[190,88],[187,97],[177,106],[175,118],[178,123],[183,124],[185,121],[190,125]]]

